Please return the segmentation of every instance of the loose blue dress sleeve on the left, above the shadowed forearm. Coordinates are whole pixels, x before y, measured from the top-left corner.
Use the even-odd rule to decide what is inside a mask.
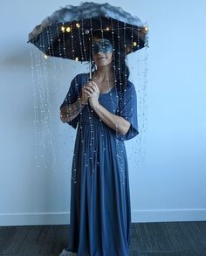
[[[60,108],[65,106],[69,107],[70,104],[74,103],[78,99],[78,95],[80,93],[78,92],[79,92],[79,75],[73,78],[69,91],[66,94],[65,100],[61,104]],[[77,128],[78,121],[79,121],[79,114],[72,121],[67,121],[67,123],[71,125],[72,128]]]

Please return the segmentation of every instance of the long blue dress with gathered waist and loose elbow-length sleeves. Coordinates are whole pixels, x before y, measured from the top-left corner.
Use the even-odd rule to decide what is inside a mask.
[[[88,73],[77,75],[61,107],[80,97]],[[113,86],[99,102],[131,123],[127,135],[109,128],[87,104],[68,124],[77,128],[72,158],[70,232],[67,251],[78,256],[127,256],[131,206],[124,141],[139,134],[134,84],[119,92]]]

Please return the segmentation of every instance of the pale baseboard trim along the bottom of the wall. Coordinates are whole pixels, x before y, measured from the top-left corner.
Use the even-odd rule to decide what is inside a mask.
[[[206,209],[134,210],[133,223],[206,221]],[[70,213],[65,212],[19,212],[1,213],[0,225],[69,225]]]

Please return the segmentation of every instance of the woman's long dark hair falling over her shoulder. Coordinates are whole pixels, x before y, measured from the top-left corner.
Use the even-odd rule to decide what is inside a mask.
[[[127,55],[125,49],[118,42],[118,38],[111,36],[111,32],[104,31],[103,37],[101,31],[93,32],[93,38],[106,38],[113,45],[113,73],[115,79],[115,85],[119,89],[127,87],[128,77],[129,77],[129,68],[127,66]],[[120,46],[119,46],[120,45]],[[93,52],[91,50],[91,52]],[[96,65],[92,62],[92,71],[95,71]]]

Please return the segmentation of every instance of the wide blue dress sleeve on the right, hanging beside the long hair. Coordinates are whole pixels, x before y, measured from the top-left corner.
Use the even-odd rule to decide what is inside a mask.
[[[139,135],[137,118],[137,94],[134,84],[128,81],[126,92],[122,93],[119,100],[118,115],[130,122],[130,128],[126,135],[118,134],[121,141],[127,141]]]

